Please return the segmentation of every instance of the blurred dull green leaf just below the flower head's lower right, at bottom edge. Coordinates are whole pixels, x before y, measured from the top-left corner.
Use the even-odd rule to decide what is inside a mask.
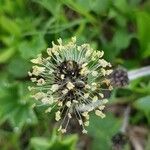
[[[95,115],[90,117],[89,134],[93,137],[92,149],[111,149],[111,138],[118,132],[121,122],[112,114],[107,114],[106,118],[101,119]]]

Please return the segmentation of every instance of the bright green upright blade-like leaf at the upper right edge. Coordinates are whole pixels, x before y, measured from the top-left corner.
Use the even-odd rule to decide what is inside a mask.
[[[150,15],[146,12],[137,12],[137,34],[143,57],[150,56]]]

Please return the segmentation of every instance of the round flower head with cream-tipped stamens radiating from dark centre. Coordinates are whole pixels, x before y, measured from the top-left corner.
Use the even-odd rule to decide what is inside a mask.
[[[104,91],[112,89],[107,78],[112,73],[111,64],[102,59],[103,51],[93,50],[89,44],[78,46],[76,38],[65,45],[58,39],[58,45],[52,45],[47,49],[47,58],[40,54],[31,60],[35,66],[29,76],[35,86],[29,90],[33,91],[32,97],[48,106],[45,112],[57,106],[55,119],[62,120],[59,131],[66,132],[70,119],[76,116],[82,132],[87,133],[89,112],[94,110],[105,117]],[[79,109],[97,101],[101,103],[96,108],[91,105],[88,111]]]

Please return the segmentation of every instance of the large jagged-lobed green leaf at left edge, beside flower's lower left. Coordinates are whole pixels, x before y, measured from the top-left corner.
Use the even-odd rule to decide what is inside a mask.
[[[20,84],[3,84],[0,87],[5,91],[4,94],[0,95],[0,122],[8,119],[12,126],[16,129],[21,129],[26,124],[37,123],[36,115],[34,114],[29,94],[24,92],[24,95],[20,94]],[[24,90],[25,91],[25,90]]]

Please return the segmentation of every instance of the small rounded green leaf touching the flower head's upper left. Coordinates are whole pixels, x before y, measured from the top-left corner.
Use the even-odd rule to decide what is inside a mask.
[[[45,48],[46,43],[44,41],[43,35],[33,36],[31,41],[23,41],[19,45],[21,57],[24,59],[36,57]]]

